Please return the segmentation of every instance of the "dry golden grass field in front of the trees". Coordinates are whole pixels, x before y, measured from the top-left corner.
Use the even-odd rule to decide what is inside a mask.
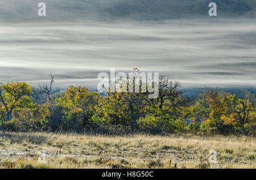
[[[209,163],[210,149],[217,152],[217,163]],[[0,168],[254,169],[255,156],[255,138],[246,136],[0,132]]]

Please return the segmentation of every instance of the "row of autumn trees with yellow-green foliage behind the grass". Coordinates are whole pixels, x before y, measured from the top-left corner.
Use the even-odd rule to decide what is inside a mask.
[[[188,97],[179,82],[161,76],[159,96],[149,99],[147,92],[102,95],[73,85],[61,91],[53,83],[52,75],[49,84],[36,87],[26,82],[1,83],[1,130],[255,135],[256,96],[249,91],[238,97],[205,88],[197,97]]]

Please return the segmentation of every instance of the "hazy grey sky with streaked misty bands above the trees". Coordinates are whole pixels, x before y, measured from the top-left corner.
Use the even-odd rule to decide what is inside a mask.
[[[49,79],[96,88],[98,72],[160,72],[183,87],[256,87],[256,3],[55,0],[0,2],[0,82]],[[182,3],[181,3],[182,2]]]

